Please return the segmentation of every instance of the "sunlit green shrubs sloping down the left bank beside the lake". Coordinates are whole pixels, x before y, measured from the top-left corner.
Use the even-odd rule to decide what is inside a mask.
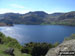
[[[19,44],[19,42],[16,39],[13,39],[11,37],[6,37],[1,32],[0,32],[0,39],[8,47],[13,47],[13,48],[19,48],[19,49],[21,49],[21,45]]]

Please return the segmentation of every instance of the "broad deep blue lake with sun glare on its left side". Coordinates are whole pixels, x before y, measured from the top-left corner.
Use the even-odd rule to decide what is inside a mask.
[[[62,42],[75,33],[75,26],[64,25],[14,25],[0,27],[6,36],[17,39],[21,44],[28,42]]]

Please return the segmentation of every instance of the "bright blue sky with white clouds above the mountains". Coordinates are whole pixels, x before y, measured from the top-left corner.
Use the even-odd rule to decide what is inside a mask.
[[[47,13],[75,11],[75,0],[0,0],[0,14],[45,11]]]

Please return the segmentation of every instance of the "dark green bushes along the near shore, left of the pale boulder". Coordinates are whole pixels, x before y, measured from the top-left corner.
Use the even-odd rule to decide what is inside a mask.
[[[58,42],[55,44],[30,42],[23,46],[21,52],[31,54],[32,56],[45,56],[50,48],[56,47],[58,45]]]

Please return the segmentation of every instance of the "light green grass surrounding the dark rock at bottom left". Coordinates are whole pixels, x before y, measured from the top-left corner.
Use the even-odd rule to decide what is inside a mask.
[[[7,47],[6,45],[4,44],[0,44],[0,56],[10,56],[8,54],[5,54],[3,51],[8,49],[9,47]],[[28,54],[23,54],[21,53],[17,48],[15,48],[15,51],[14,51],[14,54],[15,56],[30,56]]]

